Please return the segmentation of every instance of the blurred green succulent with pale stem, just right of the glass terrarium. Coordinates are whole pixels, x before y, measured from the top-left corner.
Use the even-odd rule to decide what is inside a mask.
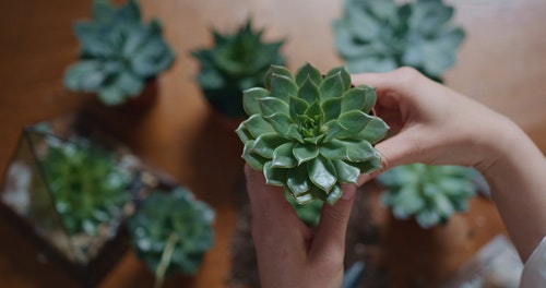
[[[213,244],[214,211],[183,187],[152,191],[128,221],[139,259],[161,287],[169,275],[194,274]]]

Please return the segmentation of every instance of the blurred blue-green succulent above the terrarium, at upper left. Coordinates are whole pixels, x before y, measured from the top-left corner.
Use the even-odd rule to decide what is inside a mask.
[[[145,24],[135,0],[120,8],[94,0],[91,21],[79,21],[79,61],[64,74],[64,85],[75,92],[97,93],[108,106],[139,96],[147,81],[174,61],[161,24]]]

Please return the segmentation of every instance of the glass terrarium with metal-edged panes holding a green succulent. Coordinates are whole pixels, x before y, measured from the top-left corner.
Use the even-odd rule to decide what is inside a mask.
[[[124,220],[157,181],[90,117],[24,129],[0,190],[2,216],[84,286],[96,285],[129,247]]]

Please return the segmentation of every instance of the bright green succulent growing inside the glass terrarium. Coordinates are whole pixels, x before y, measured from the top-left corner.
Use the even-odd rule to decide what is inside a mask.
[[[97,235],[98,227],[120,216],[130,201],[130,172],[112,153],[92,142],[47,140],[39,164],[67,232]]]

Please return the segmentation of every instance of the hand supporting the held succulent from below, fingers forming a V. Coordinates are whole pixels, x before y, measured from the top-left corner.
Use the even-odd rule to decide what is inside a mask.
[[[282,188],[266,185],[263,173],[248,165],[245,175],[261,286],[341,287],[356,187],[343,185],[343,196],[334,205],[324,205],[319,226],[311,231],[285,200]]]

